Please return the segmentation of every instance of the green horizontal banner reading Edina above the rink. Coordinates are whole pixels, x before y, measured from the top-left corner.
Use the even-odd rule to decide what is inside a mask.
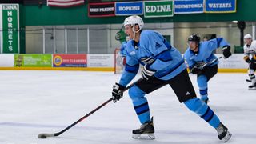
[[[144,2],[144,17],[172,17],[174,16],[173,1]]]

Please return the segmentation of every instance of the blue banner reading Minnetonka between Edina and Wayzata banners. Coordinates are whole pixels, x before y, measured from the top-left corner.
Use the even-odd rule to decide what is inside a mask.
[[[203,13],[203,0],[174,0],[174,14]]]

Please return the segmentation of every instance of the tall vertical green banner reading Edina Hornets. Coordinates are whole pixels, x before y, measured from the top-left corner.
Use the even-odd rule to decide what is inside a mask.
[[[0,45],[2,53],[19,53],[19,6],[0,5]]]

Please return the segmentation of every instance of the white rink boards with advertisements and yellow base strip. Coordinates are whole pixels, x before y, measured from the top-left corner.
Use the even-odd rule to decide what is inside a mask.
[[[219,58],[222,54],[216,54]],[[219,72],[246,72],[243,54],[220,58]],[[0,70],[114,71],[114,54],[1,54]]]

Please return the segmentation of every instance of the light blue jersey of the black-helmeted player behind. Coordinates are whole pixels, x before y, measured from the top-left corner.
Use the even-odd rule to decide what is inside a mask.
[[[184,54],[184,58],[191,69],[197,63],[212,62],[214,59],[216,59],[213,51],[222,46],[230,46],[230,44],[226,42],[224,38],[214,38],[209,41],[200,42],[198,53],[194,53],[192,50],[190,50],[190,47],[188,47]],[[210,66],[214,66],[216,64],[218,64],[218,61],[210,64]]]

